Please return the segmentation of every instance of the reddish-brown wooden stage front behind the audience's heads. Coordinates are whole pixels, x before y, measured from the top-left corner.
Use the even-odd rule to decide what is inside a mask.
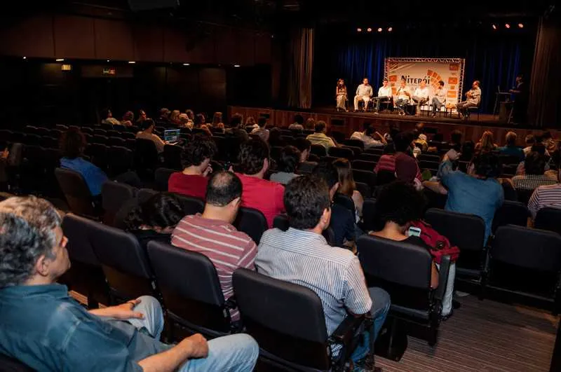
[[[450,139],[452,130],[459,130],[464,134],[464,140],[478,142],[483,132],[490,130],[494,134],[496,144],[503,145],[506,133],[513,130],[518,134],[518,145],[524,145],[526,135],[539,135],[543,130],[532,128],[528,125],[507,124],[499,120],[498,116],[488,113],[472,113],[469,120],[458,118],[457,113],[445,116],[437,113],[436,117],[426,115],[423,111],[421,116],[399,116],[397,113],[373,113],[373,112],[337,112],[334,107],[317,107],[309,110],[293,110],[293,109],[271,109],[259,107],[244,106],[228,106],[228,116],[231,118],[233,113],[241,113],[243,118],[253,116],[255,120],[260,116],[269,117],[269,123],[276,127],[287,127],[294,123],[294,116],[300,114],[307,118],[315,120],[324,120],[327,123],[327,131],[343,132],[346,136],[350,136],[356,130],[362,130],[363,123],[369,122],[379,132],[386,132],[390,123],[398,125],[400,130],[412,130],[417,123],[425,123],[426,128],[433,128],[442,133],[445,140]],[[479,120],[478,120],[479,119]],[[554,138],[560,137],[558,130],[550,130]]]

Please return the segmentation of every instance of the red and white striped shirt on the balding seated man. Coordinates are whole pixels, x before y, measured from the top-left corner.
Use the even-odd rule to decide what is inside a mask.
[[[204,219],[201,214],[184,216],[173,230],[171,244],[204,254],[212,261],[225,299],[234,296],[234,270],[255,270],[257,245],[251,237],[225,221]],[[233,321],[240,318],[237,309],[231,310],[230,315]]]

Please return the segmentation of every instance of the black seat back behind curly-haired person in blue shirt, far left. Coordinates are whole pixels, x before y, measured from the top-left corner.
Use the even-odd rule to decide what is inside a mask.
[[[96,216],[90,189],[81,174],[73,170],[57,168],[55,176],[73,213],[80,216]]]

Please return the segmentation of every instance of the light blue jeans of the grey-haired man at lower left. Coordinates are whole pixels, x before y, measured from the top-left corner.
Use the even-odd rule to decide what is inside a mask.
[[[142,312],[144,319],[130,319],[137,329],[145,329],[156,340],[163,330],[163,312],[158,300],[152,296],[139,297],[141,302],[135,311]],[[186,361],[177,371],[253,371],[259,357],[259,345],[243,333],[214,338],[208,341],[208,356]]]

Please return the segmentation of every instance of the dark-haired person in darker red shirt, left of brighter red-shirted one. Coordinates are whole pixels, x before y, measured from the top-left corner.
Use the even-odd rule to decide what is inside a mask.
[[[210,160],[217,153],[212,139],[201,135],[187,142],[182,153],[183,172],[177,172],[168,180],[168,191],[205,199],[208,174],[212,172]]]

